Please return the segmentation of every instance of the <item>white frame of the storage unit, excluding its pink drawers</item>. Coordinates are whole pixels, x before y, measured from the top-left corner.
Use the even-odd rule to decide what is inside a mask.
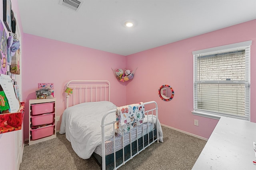
[[[47,136],[47,137],[42,137],[40,139],[33,140],[32,139],[32,132],[31,132],[32,117],[34,117],[34,116],[32,116],[32,106],[36,105],[36,104],[47,104],[47,103],[54,103],[53,134],[50,135],[50,136]],[[33,144],[36,144],[36,143],[47,141],[49,139],[56,138],[56,98],[52,98],[52,99],[30,99],[29,100],[29,128],[28,129],[29,129],[28,145],[33,145]]]

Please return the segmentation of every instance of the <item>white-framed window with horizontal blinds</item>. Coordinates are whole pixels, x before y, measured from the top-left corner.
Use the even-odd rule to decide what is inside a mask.
[[[252,41],[193,51],[195,115],[250,120]]]

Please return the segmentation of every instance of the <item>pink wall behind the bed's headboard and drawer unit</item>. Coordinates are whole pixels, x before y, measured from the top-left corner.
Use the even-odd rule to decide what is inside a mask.
[[[118,82],[112,68],[125,68],[125,57],[46,39],[23,36],[22,100],[25,103],[24,138],[28,139],[28,102],[36,98],[38,83],[54,83],[57,115],[64,111],[64,90],[70,80],[109,80],[110,100],[117,106],[126,104],[125,84]],[[121,99],[121,100],[120,100]],[[57,123],[57,130],[60,129]]]

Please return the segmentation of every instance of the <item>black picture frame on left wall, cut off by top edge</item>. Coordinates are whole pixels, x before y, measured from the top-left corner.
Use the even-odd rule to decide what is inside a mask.
[[[12,4],[11,0],[3,0],[3,20],[8,31],[11,31],[12,17],[11,17]]]

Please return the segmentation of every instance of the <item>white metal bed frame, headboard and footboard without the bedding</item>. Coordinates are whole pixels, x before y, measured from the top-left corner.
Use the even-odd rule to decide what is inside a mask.
[[[90,84],[90,85],[84,85],[84,84]],[[80,104],[83,102],[98,102],[98,101],[110,101],[110,82],[107,80],[71,80],[67,83],[67,88],[72,88],[73,89],[73,93],[72,95],[67,95],[66,98],[66,107],[69,107],[69,101],[71,101],[71,106],[74,106],[76,104]],[[83,90],[85,89],[85,90]],[[94,89],[94,92],[92,92]],[[97,90],[95,90],[97,89]],[[90,94],[88,93],[88,91],[90,92]],[[78,94],[76,94],[76,92],[78,92]],[[100,99],[97,99],[97,94],[100,93]],[[90,95],[89,99],[87,98],[87,95]],[[76,95],[78,95],[76,97]],[[95,95],[96,97],[93,98],[93,95]],[[70,97],[71,96],[71,97]],[[82,97],[84,96],[84,98]],[[102,96],[104,96],[102,98]],[[107,100],[106,100],[107,99]],[[78,101],[77,101],[78,100]],[[124,165],[126,162],[128,162],[129,160],[131,160],[134,156],[136,156],[137,154],[139,154],[142,150],[145,150],[147,147],[149,147],[150,145],[152,145],[154,142],[157,141],[157,143],[159,143],[159,133],[158,133],[158,106],[157,103],[155,101],[150,101],[150,102],[145,102],[144,105],[148,105],[148,104],[155,104],[154,109],[150,109],[145,111],[145,115],[155,115],[156,116],[156,139],[154,139],[154,129],[152,129],[152,131],[148,131],[147,135],[148,135],[148,142],[147,145],[144,145],[144,135],[142,135],[142,140],[143,140],[143,148],[139,150],[139,146],[138,146],[138,127],[136,126],[136,133],[137,133],[137,152],[135,154],[132,155],[132,145],[131,143],[134,141],[131,141],[131,130],[130,130],[130,158],[128,158],[127,160],[125,160],[125,151],[124,151],[124,139],[122,139],[122,163],[118,166],[116,166],[116,144],[115,144],[115,123],[118,121],[112,121],[112,122],[107,122],[104,123],[105,118],[107,117],[107,115],[111,114],[111,113],[116,113],[117,109],[113,109],[108,111],[107,113],[105,113],[102,117],[102,123],[101,123],[101,129],[102,129],[102,170],[106,170],[106,155],[105,155],[105,141],[104,141],[104,137],[105,137],[105,133],[104,133],[104,127],[107,125],[111,125],[113,126],[113,136],[114,136],[114,170],[120,168],[120,166]],[[152,116],[153,119],[153,116]],[[138,121],[137,121],[138,122]],[[148,121],[149,122],[149,121]],[[152,120],[153,122],[153,120]],[[143,123],[143,122],[142,122]],[[128,126],[130,126],[130,124],[128,124]],[[147,123],[147,127],[149,129],[149,123]],[[122,127],[119,127],[122,128]],[[129,132],[128,132],[129,133]],[[153,140],[150,142],[150,133],[152,133],[153,135]],[[143,128],[142,128],[142,134],[144,134]],[[124,132],[122,131],[122,136],[124,136]],[[128,144],[128,145],[129,145]]]

